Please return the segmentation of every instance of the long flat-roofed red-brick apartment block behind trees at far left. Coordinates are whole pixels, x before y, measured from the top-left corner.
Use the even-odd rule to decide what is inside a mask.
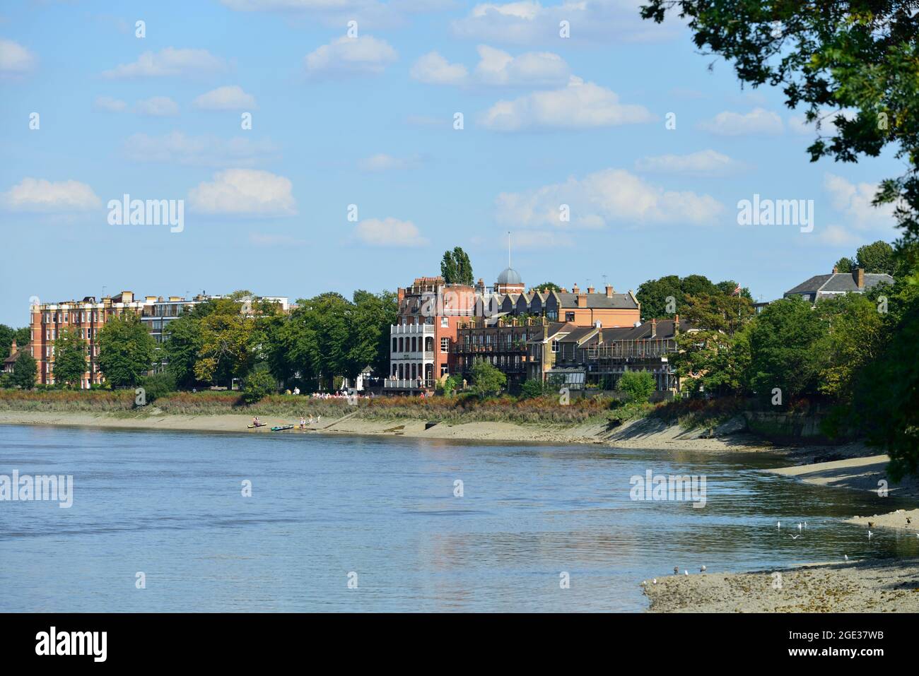
[[[170,296],[168,299],[162,296],[146,296],[140,300],[134,298],[132,291],[122,291],[116,296],[106,296],[98,301],[94,296],[86,296],[83,300],[63,300],[56,303],[32,305],[29,309],[31,316],[29,352],[37,362],[37,382],[44,385],[54,384],[54,341],[57,340],[62,330],[76,331],[86,342],[86,371],[80,387],[88,389],[92,385],[102,384],[105,379],[97,365],[98,332],[112,317],[134,312],[141,318],[159,345],[164,341],[165,329],[170,321],[199,303],[220,298],[223,297],[199,294],[191,300],[178,296]],[[279,303],[284,311],[288,311],[291,307],[286,297],[264,297],[264,299]],[[158,357],[156,361],[156,364],[151,365],[152,371],[159,370],[165,365],[165,360],[162,358]]]

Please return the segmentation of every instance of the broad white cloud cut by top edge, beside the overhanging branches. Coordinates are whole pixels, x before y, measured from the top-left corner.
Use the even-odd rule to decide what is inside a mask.
[[[523,0],[481,3],[451,24],[458,38],[499,44],[546,45],[561,39],[559,23],[568,21],[571,39],[587,42],[645,42],[673,39],[679,22],[641,19],[644,0],[562,0],[555,6]]]

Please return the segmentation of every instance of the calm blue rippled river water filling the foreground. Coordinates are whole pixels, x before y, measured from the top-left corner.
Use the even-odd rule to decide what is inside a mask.
[[[919,555],[914,536],[868,542],[838,519],[911,505],[757,471],[782,462],[0,426],[0,474],[74,476],[69,510],[0,502],[0,611],[640,611],[639,582],[675,566]],[[706,506],[631,501],[630,477],[647,469],[706,476]]]

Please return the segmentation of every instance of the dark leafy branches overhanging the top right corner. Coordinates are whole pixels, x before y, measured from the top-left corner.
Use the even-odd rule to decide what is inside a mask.
[[[892,144],[905,172],[881,182],[874,203],[896,204],[904,239],[919,237],[919,22],[896,0],[646,0],[658,23],[674,10],[700,50],[733,63],[743,83],[783,87],[819,134],[811,161],[857,162]],[[904,76],[904,73],[909,73]]]

